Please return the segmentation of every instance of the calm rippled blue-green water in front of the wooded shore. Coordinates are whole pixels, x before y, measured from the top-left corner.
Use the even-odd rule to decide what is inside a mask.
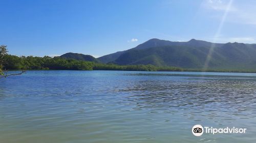
[[[247,128],[203,134],[191,127]],[[256,142],[256,74],[27,71],[0,79],[0,142]]]

